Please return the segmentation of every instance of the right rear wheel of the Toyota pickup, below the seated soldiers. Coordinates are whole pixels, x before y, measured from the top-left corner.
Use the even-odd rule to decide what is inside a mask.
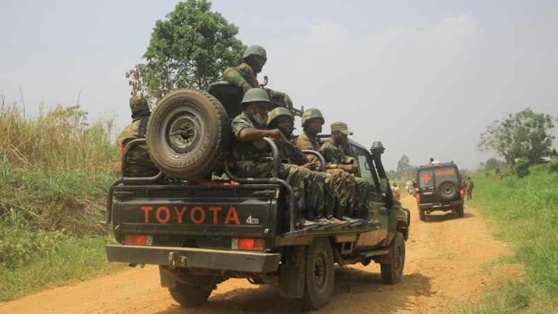
[[[306,253],[303,308],[318,310],[328,304],[333,293],[335,265],[333,251],[327,238],[312,241]]]

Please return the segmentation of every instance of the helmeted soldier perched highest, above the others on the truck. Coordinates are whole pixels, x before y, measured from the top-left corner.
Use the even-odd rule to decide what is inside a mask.
[[[236,85],[242,89],[243,94],[252,88],[259,88],[257,73],[267,61],[267,53],[264,47],[253,45],[246,49],[242,56],[242,63],[236,67],[229,67],[223,73],[223,80]],[[264,89],[275,107],[287,107],[292,109],[292,101],[289,95],[273,89]]]

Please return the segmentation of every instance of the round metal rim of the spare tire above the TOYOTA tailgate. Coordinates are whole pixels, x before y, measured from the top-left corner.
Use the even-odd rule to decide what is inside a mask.
[[[165,121],[167,131],[162,134],[167,136],[161,140],[167,142],[169,150],[175,154],[188,154],[199,147],[204,136],[204,122],[203,119],[198,119],[199,116],[196,110],[185,107],[178,108],[167,116],[169,117]]]

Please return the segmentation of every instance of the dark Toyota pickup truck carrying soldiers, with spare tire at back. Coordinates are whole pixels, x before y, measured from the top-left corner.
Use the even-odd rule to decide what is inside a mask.
[[[107,259],[158,265],[161,286],[186,307],[206,302],[229,278],[246,278],[276,285],[303,308],[319,309],[331,299],[335,263],[374,262],[384,283],[398,283],[410,213],[391,193],[382,142],[366,149],[351,140],[344,148],[371,186],[369,218],[376,223],[298,230],[286,181],[235,177],[229,169],[229,119],[239,112],[241,96],[223,82],[212,87],[209,93],[180,89],[165,96],[151,114],[146,138],[124,149],[121,178],[110,187],[102,222],[119,243],[106,246]],[[264,140],[276,156],[273,141]],[[126,177],[126,154],[137,144],[147,144],[161,170],[156,177]]]

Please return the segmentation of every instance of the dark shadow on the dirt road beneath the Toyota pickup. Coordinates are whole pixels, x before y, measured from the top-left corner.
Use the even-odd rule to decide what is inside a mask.
[[[246,286],[243,283],[239,284]],[[379,264],[335,267],[335,286],[327,306],[312,313],[393,313],[409,311],[414,297],[430,296],[430,278],[421,274],[403,274],[397,285],[382,282]],[[169,306],[160,313],[306,313],[298,299],[280,297],[278,287],[251,285],[212,294],[209,301],[197,308]]]

